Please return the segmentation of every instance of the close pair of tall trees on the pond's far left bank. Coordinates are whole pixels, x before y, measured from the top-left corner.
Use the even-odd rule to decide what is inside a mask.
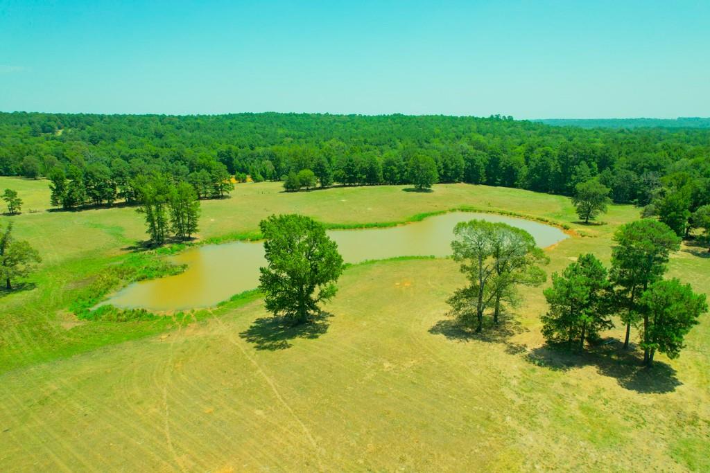
[[[146,233],[153,245],[163,245],[171,233],[179,240],[197,233],[200,201],[187,182],[171,182],[160,174],[141,179],[138,212],[146,217]]]

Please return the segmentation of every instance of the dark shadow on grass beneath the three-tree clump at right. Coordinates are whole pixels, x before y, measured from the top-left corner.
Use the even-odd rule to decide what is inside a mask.
[[[591,365],[599,374],[616,379],[619,386],[641,394],[669,393],[682,384],[670,365],[655,361],[652,367],[644,367],[639,352],[622,350],[621,342],[614,339],[588,347],[581,353],[571,352],[567,347],[544,345],[528,352],[525,358],[533,365],[555,371]]]

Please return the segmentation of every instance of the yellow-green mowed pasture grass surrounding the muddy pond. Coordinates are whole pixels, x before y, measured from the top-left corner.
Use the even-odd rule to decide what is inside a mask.
[[[459,206],[588,235],[548,249],[548,272],[580,252],[608,262],[613,230],[638,218],[612,206],[606,225],[581,226],[564,197],[464,184],[283,194],[265,183],[204,202],[200,236],[253,232],[271,213],[354,224]],[[275,327],[260,300],[185,320],[78,323],[66,311],[72,297],[143,238],[141,216],[115,208],[12,218],[45,263],[35,289],[0,297],[3,470],[709,467],[708,316],[678,360],[661,356],[648,372],[613,345],[582,357],[545,350],[542,288],[523,291],[503,328],[466,337],[445,315],[463,284],[457,265],[400,260],[346,269],[326,306],[332,316],[308,330]],[[700,247],[674,255],[670,275],[710,292]]]

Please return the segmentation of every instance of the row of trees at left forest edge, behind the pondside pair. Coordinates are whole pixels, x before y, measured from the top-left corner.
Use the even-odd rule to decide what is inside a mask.
[[[100,162],[85,167],[69,165],[66,172],[62,167],[53,167],[48,174],[50,203],[67,209],[111,206],[119,199],[126,204],[135,204],[141,199],[146,176],[155,174],[165,174],[175,183],[189,183],[199,199],[223,197],[234,189],[231,176],[222,163],[203,159],[192,162],[191,166],[175,161],[165,171],[136,160],[129,163],[116,158],[111,167]]]

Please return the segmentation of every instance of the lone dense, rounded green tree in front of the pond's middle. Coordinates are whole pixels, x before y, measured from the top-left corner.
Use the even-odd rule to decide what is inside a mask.
[[[337,291],[343,271],[338,246],[322,224],[305,216],[271,216],[259,227],[268,262],[259,268],[266,310],[294,325],[304,323]]]

